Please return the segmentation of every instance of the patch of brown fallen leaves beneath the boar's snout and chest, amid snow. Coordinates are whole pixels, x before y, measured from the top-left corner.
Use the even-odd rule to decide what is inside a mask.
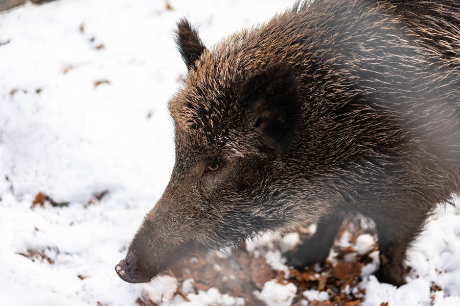
[[[358,230],[362,233],[360,228]],[[355,237],[352,236],[352,239]],[[320,267],[320,271],[315,271],[313,267],[304,271],[289,268],[287,275],[282,270],[272,270],[264,257],[252,256],[244,246],[241,246],[228,258],[217,256],[214,252],[197,256],[193,260],[184,260],[171,268],[170,274],[178,279],[179,288],[183,280],[193,278],[195,293],[214,287],[223,294],[243,297],[246,304],[250,305],[264,305],[253,293],[261,291],[266,282],[275,279],[275,282],[281,285],[292,283],[297,287],[293,305],[301,305],[302,301],[308,301],[303,295],[304,291],[317,290],[327,292],[329,299],[310,300],[308,301],[310,306],[357,306],[361,303],[365,292],[349,288],[354,288],[361,281],[361,268],[365,263],[371,262],[372,258],[369,258],[370,252],[368,252],[356,256],[354,262],[343,261],[345,254],[355,252],[352,247],[338,247],[337,264],[328,263]],[[186,297],[181,291],[176,294]]]

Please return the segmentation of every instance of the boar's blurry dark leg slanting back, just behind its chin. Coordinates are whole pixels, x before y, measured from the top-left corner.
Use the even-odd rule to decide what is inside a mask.
[[[289,251],[285,254],[288,260],[287,265],[297,269],[303,269],[315,262],[324,265],[342,221],[340,214],[321,217],[313,236],[299,245],[296,251]]]

